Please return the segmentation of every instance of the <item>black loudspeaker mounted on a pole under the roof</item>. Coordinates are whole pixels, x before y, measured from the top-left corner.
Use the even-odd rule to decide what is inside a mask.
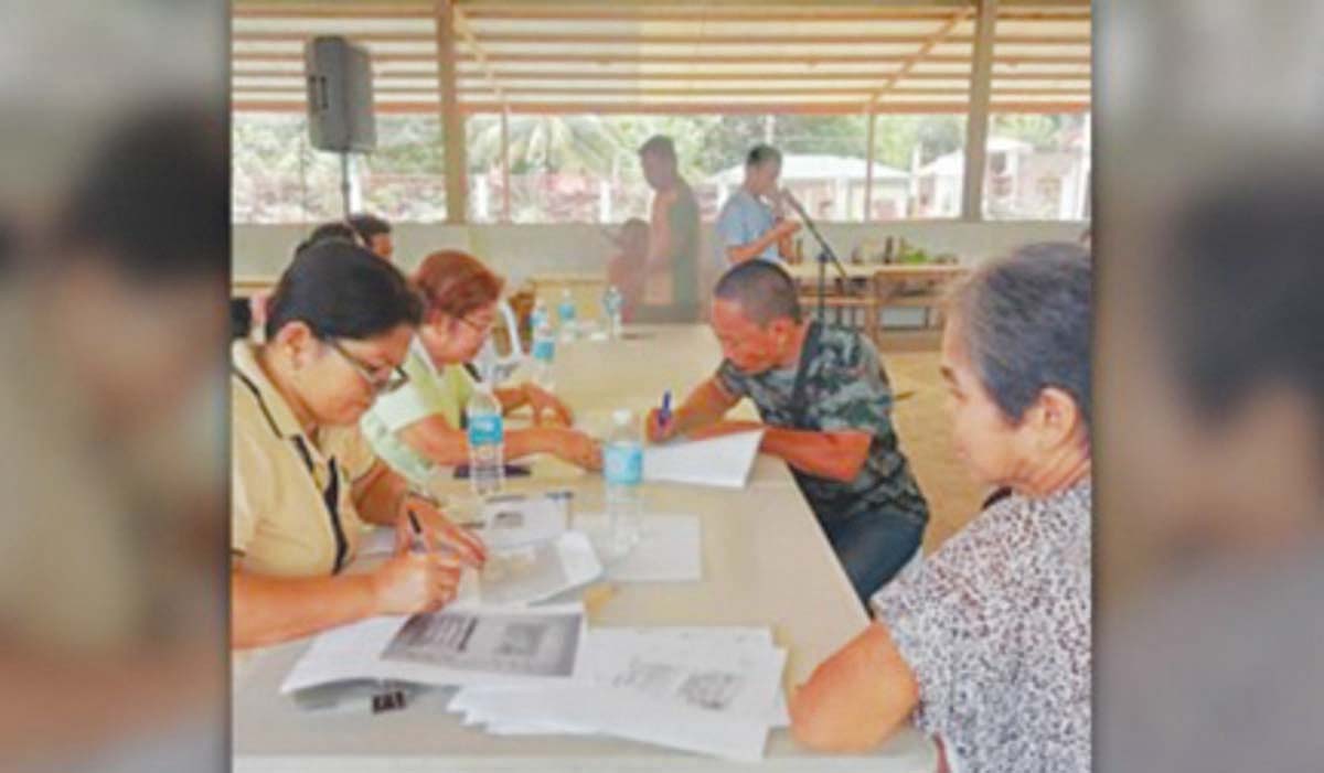
[[[320,151],[377,146],[368,50],[339,36],[315,37],[303,50],[308,74],[308,140]]]

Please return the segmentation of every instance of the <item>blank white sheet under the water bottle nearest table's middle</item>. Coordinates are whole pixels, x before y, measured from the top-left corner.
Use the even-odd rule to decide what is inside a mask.
[[[576,515],[575,528],[605,529],[606,516]],[[645,515],[639,541],[606,568],[617,582],[696,582],[703,578],[703,532],[694,515]]]

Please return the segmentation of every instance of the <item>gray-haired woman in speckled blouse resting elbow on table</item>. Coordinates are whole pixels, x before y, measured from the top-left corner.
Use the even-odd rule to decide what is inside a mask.
[[[953,293],[957,454],[1012,494],[874,596],[792,699],[802,744],[862,750],[914,717],[952,770],[1088,769],[1090,285],[1090,254],[1055,242]]]

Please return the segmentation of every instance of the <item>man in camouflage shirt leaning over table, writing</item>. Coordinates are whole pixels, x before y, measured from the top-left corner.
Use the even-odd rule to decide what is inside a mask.
[[[764,428],[760,450],[790,465],[861,601],[919,549],[928,506],[898,446],[878,352],[851,330],[801,320],[794,281],[764,261],[718,282],[712,328],[726,360],[649,437]],[[723,421],[743,397],[763,424]],[[867,602],[867,601],[866,601]]]

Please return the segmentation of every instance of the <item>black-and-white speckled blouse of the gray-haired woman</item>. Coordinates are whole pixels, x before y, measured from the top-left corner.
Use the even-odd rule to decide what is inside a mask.
[[[1090,769],[1090,502],[1002,499],[874,596],[953,770]]]

